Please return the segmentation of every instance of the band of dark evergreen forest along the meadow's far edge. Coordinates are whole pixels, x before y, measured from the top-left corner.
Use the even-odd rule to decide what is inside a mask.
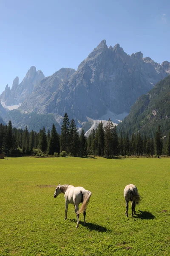
[[[164,143],[163,143],[164,142]],[[117,134],[116,126],[108,119],[106,126],[100,122],[88,138],[82,129],[78,133],[74,119],[71,121],[67,113],[63,118],[61,134],[57,133],[53,124],[51,131],[43,127],[39,133],[35,131],[12,128],[11,121],[8,125],[0,124],[0,153],[7,155],[54,155],[74,157],[102,156],[114,157],[119,155],[153,156],[170,155],[170,133],[162,138],[160,126],[153,138],[142,137],[140,133]]]

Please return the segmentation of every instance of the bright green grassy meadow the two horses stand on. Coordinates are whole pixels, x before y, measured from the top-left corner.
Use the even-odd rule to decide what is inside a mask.
[[[76,229],[56,185],[92,192]],[[125,216],[123,190],[137,186],[137,215]],[[151,254],[150,254],[151,253]],[[170,255],[170,158],[9,158],[0,160],[0,256]]]

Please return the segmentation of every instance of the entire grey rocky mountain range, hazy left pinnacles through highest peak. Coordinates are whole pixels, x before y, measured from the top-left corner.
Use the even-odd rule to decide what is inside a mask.
[[[22,115],[51,113],[61,125],[67,112],[86,132],[98,123],[96,120],[110,117],[118,124],[139,96],[169,74],[170,62],[156,63],[149,57],[143,58],[142,52],[127,55],[119,44],[108,47],[103,40],[77,71],[62,68],[44,77],[42,71],[31,67],[20,84],[16,77],[11,89],[6,86],[0,100],[3,107],[17,110],[8,111],[3,119],[11,119],[16,127],[21,127]],[[18,115],[20,122],[13,118]]]

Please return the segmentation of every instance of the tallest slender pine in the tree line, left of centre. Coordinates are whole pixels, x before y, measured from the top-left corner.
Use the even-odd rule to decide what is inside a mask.
[[[61,136],[60,136],[60,147],[61,151],[69,151],[69,118],[67,113],[65,113],[63,120],[62,120],[62,127],[61,127]]]

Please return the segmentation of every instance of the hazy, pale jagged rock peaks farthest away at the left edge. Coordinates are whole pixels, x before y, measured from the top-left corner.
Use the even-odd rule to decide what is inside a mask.
[[[6,85],[5,90],[0,95],[1,104],[9,110],[18,108],[21,103],[30,95],[36,85],[44,78],[41,70],[36,71],[36,67],[30,67],[23,81],[19,84],[19,78],[13,81],[12,88]]]

